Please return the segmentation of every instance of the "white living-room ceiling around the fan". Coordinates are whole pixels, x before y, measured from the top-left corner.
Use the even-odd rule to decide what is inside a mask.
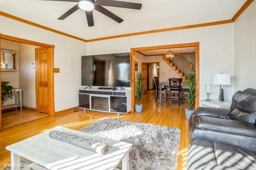
[[[141,3],[140,10],[105,8],[122,18],[122,23],[93,10],[94,26],[88,27],[85,12],[77,10],[57,20],[76,2],[49,0],[0,0],[0,11],[80,37],[95,39],[126,33],[164,29],[198,23],[230,20],[246,0],[122,0]]]

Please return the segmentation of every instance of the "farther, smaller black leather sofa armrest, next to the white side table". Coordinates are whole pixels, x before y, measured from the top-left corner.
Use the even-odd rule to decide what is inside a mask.
[[[214,107],[198,107],[196,109],[196,115],[198,116],[208,116],[208,117],[217,117],[221,119],[228,119],[227,109],[220,109]]]

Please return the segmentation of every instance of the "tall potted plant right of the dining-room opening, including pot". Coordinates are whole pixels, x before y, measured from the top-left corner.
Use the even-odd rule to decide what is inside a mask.
[[[186,73],[187,81],[186,86],[188,86],[188,89],[186,89],[187,95],[184,96],[186,99],[186,102],[188,103],[188,108],[185,109],[186,118],[189,119],[192,113],[195,112],[195,109],[193,109],[193,105],[196,100],[196,72],[187,72]]]

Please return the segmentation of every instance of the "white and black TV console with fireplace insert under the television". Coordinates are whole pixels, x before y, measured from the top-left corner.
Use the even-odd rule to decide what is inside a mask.
[[[79,89],[79,108],[108,113],[128,113],[132,110],[131,90]]]

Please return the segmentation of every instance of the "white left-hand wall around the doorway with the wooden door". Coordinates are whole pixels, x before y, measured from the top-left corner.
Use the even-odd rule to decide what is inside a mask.
[[[86,55],[86,43],[3,16],[0,16],[0,23],[4,23],[0,26],[1,34],[55,46],[54,68],[60,68],[60,73],[54,73],[55,111],[78,106],[81,56]]]

